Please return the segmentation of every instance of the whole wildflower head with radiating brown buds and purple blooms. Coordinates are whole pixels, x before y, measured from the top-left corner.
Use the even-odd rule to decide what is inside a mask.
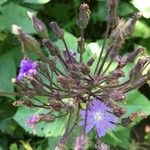
[[[105,39],[97,57],[93,57],[85,42],[84,31],[91,13],[85,3],[79,8],[80,37],[72,43],[77,44],[73,51],[63,29],[55,21],[49,25],[64,44],[63,48],[52,41],[44,23],[30,12],[28,15],[41,38],[40,43],[13,25],[24,54],[19,74],[12,79],[16,87],[14,94],[19,99],[13,105],[26,108],[24,115],[28,118],[20,118],[20,121],[28,131],[39,136],[59,137],[56,149],[65,149],[69,139],[73,139],[75,150],[86,149],[92,131],[97,140],[95,145],[100,149],[105,145],[100,138],[110,130],[118,125],[128,127],[136,118],[147,115],[144,110],[128,112],[125,102],[126,93],[150,79],[150,57],[142,47],[120,54],[141,13],[126,21],[117,16],[117,0],[107,0],[107,3]],[[31,60],[30,53],[38,60]],[[91,55],[85,60],[87,53]],[[126,72],[128,64],[132,67]]]

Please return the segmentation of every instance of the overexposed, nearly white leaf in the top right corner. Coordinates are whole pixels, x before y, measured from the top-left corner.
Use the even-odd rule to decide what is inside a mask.
[[[132,0],[132,4],[145,18],[150,18],[150,0]]]

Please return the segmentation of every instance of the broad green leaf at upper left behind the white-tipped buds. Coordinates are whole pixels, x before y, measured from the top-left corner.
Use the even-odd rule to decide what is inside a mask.
[[[2,7],[0,15],[0,30],[11,31],[12,24],[23,28],[27,33],[35,33],[27,11],[33,11],[17,4],[7,4]]]

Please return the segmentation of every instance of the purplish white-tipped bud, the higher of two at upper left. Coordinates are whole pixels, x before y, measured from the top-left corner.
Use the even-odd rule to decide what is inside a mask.
[[[40,19],[36,18],[33,13],[27,12],[27,14],[31,18],[34,29],[39,34],[39,36],[42,38],[48,38],[48,31],[45,24]]]

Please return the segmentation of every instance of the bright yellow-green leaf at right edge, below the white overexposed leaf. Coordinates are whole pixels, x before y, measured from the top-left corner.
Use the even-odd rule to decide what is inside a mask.
[[[143,21],[137,21],[134,32],[134,37],[148,38],[150,37],[150,27]]]

